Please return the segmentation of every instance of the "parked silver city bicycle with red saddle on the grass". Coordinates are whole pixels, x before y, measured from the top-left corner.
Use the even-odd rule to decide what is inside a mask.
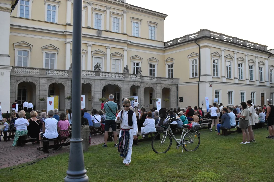
[[[163,127],[164,131],[156,133],[156,135],[153,137],[151,143],[153,151],[157,154],[166,153],[167,151],[169,151],[172,145],[171,138],[173,138],[178,144],[176,147],[177,149],[179,149],[180,146],[182,147],[182,152],[183,148],[187,152],[197,150],[200,145],[200,133],[198,133],[196,130],[198,130],[200,126],[193,126],[191,129],[187,129],[187,127],[189,127],[188,124],[182,125],[184,129],[182,131],[181,138],[176,139],[170,128],[170,123],[172,122],[172,119],[176,118],[160,118],[159,126]]]

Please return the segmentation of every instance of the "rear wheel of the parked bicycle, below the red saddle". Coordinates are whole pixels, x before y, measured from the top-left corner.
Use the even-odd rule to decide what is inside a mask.
[[[183,144],[185,151],[187,152],[195,151],[200,145],[200,135],[196,133],[195,131],[188,132],[183,137],[183,143],[187,143],[187,142],[190,142],[190,143]]]

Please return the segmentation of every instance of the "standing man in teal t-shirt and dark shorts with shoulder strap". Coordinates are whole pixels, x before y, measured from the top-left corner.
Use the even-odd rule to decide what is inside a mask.
[[[102,145],[102,147],[107,147],[107,135],[109,133],[110,126],[111,126],[111,129],[113,131],[113,135],[114,135],[114,147],[118,147],[117,132],[116,132],[117,124],[115,122],[116,113],[118,111],[118,105],[116,103],[114,103],[113,100],[114,100],[114,96],[113,96],[113,94],[110,94],[109,95],[109,102],[105,103],[105,105],[104,105],[104,110],[105,110],[105,135],[104,135],[104,144]]]

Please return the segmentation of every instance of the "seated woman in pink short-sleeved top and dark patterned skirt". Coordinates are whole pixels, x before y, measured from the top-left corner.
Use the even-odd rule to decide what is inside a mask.
[[[66,114],[63,112],[60,117],[59,117],[60,121],[58,121],[58,134],[60,138],[67,138],[70,133],[69,133],[69,121],[67,120],[67,116]],[[63,139],[63,143],[65,143],[65,141],[67,141],[67,139]],[[62,140],[60,141],[60,143],[62,142]]]

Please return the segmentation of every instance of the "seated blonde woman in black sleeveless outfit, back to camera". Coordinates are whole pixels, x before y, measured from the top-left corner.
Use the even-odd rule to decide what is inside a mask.
[[[39,142],[39,133],[40,133],[40,128],[41,128],[39,119],[36,118],[37,115],[38,115],[38,113],[35,111],[30,112],[31,118],[28,119],[28,123],[30,123],[30,125],[27,127],[28,135],[31,138],[36,138],[36,143]],[[42,125],[42,127],[43,127],[43,125]],[[32,142],[32,144],[35,144],[35,142]]]

